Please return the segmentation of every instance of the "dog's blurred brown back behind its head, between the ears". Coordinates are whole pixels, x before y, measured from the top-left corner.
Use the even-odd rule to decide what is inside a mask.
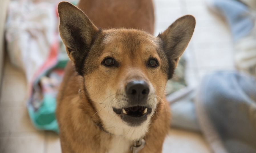
[[[134,28],[154,33],[152,0],[82,0],[78,8],[103,29]]]

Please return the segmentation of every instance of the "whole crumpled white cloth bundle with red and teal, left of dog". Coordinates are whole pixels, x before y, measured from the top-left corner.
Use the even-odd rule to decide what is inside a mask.
[[[5,31],[11,64],[25,72],[33,125],[58,133],[56,95],[69,59],[58,33],[56,4],[10,1]]]

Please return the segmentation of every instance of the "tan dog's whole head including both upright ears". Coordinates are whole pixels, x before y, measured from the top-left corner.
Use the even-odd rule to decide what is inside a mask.
[[[143,137],[192,37],[194,17],[183,16],[154,37],[134,29],[98,29],[68,2],[58,12],[60,36],[84,78],[81,109],[109,133]]]

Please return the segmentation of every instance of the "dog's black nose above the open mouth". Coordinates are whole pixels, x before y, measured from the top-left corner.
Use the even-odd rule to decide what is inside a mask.
[[[130,81],[125,91],[133,104],[144,103],[149,95],[149,85],[143,80]]]

